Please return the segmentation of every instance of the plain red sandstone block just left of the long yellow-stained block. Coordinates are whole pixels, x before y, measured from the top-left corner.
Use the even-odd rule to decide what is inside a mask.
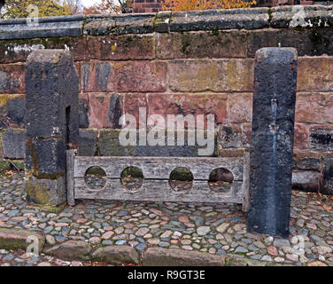
[[[167,66],[161,61],[117,62],[114,65],[117,91],[150,92],[167,90]]]

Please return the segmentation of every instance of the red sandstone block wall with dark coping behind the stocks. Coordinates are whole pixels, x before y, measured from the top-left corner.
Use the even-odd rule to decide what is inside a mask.
[[[43,48],[73,54],[81,154],[143,154],[117,139],[121,114],[137,117],[140,106],[165,116],[215,114],[217,154],[242,154],[251,145],[254,54],[280,45],[298,51],[294,184],[333,193],[333,12],[300,7],[304,20],[285,6],[58,17],[33,30],[24,20],[0,21],[0,154],[23,158],[25,62]]]

